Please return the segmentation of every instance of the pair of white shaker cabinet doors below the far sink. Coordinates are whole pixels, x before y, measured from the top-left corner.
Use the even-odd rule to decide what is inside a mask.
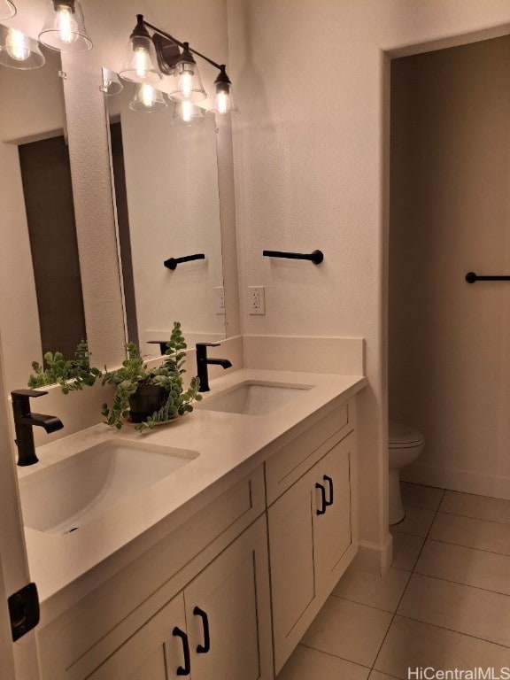
[[[351,559],[353,442],[336,444],[267,510],[276,673]]]

